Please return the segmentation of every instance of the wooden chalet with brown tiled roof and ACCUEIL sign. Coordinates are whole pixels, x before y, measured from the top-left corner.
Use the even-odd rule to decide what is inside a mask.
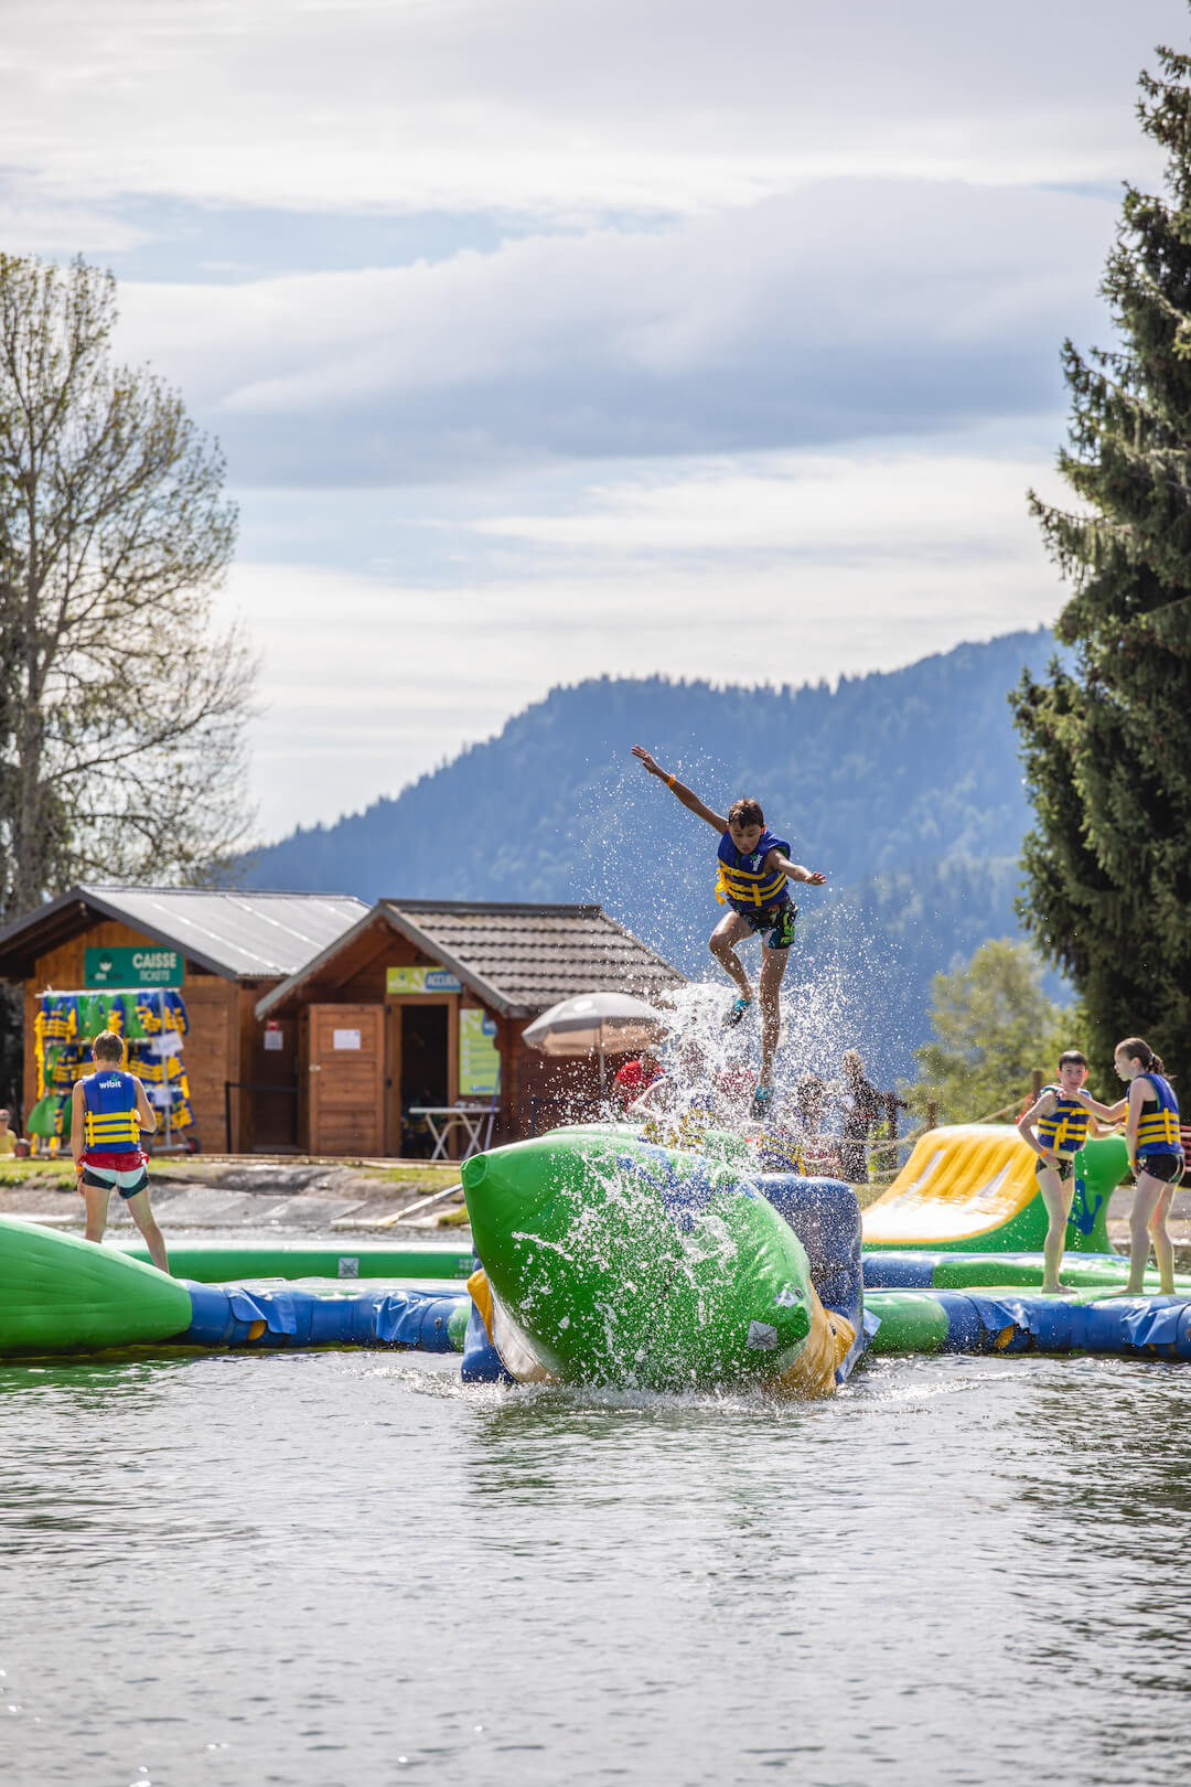
[[[600,906],[382,899],[255,1013],[295,1036],[311,1154],[402,1154],[425,1106],[489,1104],[504,1140],[591,1108],[593,1063],[539,1054],[525,1026],[573,994],[682,981]]]

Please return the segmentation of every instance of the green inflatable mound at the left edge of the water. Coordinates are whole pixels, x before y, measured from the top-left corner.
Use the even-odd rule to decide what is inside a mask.
[[[0,1358],[168,1340],[189,1321],[189,1292],[155,1267],[0,1217]]]

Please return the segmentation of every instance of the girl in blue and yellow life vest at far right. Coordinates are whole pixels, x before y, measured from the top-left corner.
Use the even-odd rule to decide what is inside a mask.
[[[1139,1297],[1145,1290],[1146,1260],[1154,1242],[1159,1296],[1175,1294],[1175,1244],[1166,1217],[1182,1179],[1186,1158],[1179,1133],[1179,1099],[1166,1078],[1162,1058],[1141,1036],[1125,1036],[1112,1054],[1118,1078],[1129,1094],[1118,1104],[1096,1104],[1082,1094],[1096,1117],[1127,1113],[1125,1144],[1136,1178],[1134,1208],[1129,1217],[1129,1283],[1121,1296]]]

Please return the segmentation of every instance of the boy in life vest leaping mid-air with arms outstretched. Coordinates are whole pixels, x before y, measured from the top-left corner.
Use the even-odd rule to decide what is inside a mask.
[[[716,899],[732,910],[711,933],[711,952],[739,988],[739,999],[725,1017],[725,1024],[739,1024],[754,1004],[752,981],[734,945],[755,931],[761,933],[761,1081],[754,1094],[752,1113],[764,1117],[773,1104],[773,1058],[782,1022],[779,992],[798,915],[786,885],[805,881],[818,888],[827,876],[804,868],[802,863],[791,863],[787,840],[766,829],[759,801],[734,801],[725,818],[721,813],[712,813],[675,776],[668,776],[645,745],[634,745],[632,754],[650,776],[666,783],[687,811],[720,833]]]

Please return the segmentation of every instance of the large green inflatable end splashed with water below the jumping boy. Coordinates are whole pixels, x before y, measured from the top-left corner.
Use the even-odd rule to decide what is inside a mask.
[[[462,1183],[502,1355],[564,1383],[773,1383],[823,1321],[802,1242],[725,1163],[571,1129],[479,1154]]]

